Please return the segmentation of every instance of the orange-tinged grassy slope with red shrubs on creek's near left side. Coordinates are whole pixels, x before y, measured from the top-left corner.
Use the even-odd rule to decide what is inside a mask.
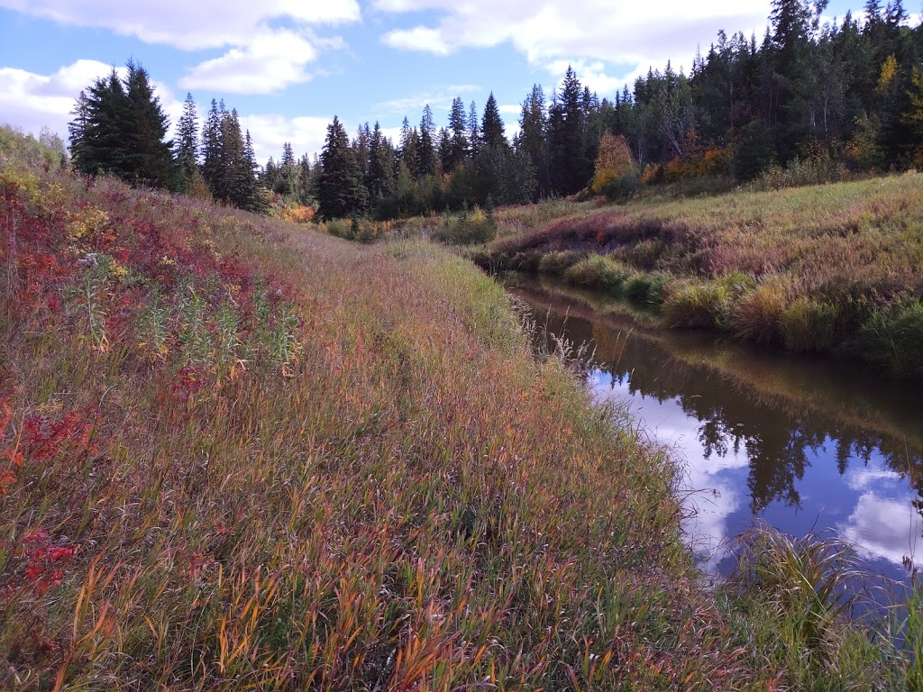
[[[715,598],[677,467],[593,406],[567,349],[533,352],[528,317],[455,253],[52,161],[0,167],[0,226],[2,688],[872,689],[916,671],[763,563]],[[806,579],[830,584],[818,564]]]

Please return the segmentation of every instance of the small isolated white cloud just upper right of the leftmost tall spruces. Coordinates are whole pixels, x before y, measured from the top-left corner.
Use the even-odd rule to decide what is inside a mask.
[[[212,89],[237,94],[266,94],[306,82],[308,63],[318,51],[294,31],[263,31],[243,48],[193,67],[180,79],[183,89]]]

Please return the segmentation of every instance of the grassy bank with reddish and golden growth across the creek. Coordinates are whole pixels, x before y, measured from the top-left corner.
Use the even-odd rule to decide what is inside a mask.
[[[923,176],[507,209],[492,268],[654,304],[665,324],[845,352],[923,381]]]

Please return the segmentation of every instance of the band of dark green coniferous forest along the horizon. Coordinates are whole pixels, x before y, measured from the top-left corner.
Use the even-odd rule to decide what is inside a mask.
[[[129,63],[125,78],[113,72],[81,92],[71,149],[84,173],[241,209],[311,207],[327,219],[393,219],[584,190],[617,198],[688,180],[723,191],[767,171],[835,180],[919,165],[923,25],[909,25],[901,0],[869,0],[862,18],[835,23],[822,20],[826,5],[775,0],[762,37],[722,31],[688,74],[652,67],[612,97],[600,99],[568,69],[550,93],[536,84],[525,95],[511,138],[493,94],[483,110],[457,97],[445,125],[427,105],[418,122],[404,118],[394,142],[378,123],[351,137],[334,118],[319,157],[296,158],[296,143],[286,143],[263,166],[223,101],[211,101],[200,123],[188,95],[175,141],[164,142],[168,123],[148,73]]]

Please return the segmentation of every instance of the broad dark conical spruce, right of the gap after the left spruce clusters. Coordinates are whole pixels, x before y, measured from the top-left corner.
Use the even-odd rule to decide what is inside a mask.
[[[327,127],[327,141],[320,154],[318,179],[320,215],[325,219],[342,219],[361,214],[366,209],[366,186],[355,160],[354,149],[340,119],[333,118]]]

